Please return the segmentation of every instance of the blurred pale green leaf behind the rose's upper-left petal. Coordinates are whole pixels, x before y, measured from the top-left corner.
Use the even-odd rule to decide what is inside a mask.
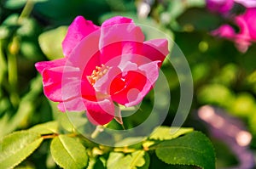
[[[67,33],[67,26],[45,31],[38,37],[40,48],[50,60],[63,58],[61,42]]]

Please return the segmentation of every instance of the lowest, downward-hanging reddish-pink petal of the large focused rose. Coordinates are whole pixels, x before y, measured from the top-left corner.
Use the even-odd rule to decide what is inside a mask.
[[[87,118],[95,125],[104,125],[113,120],[114,105],[109,99],[98,102],[86,102]]]

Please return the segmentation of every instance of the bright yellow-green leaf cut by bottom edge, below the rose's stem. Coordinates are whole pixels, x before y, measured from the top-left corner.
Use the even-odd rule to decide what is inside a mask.
[[[123,153],[112,152],[107,161],[107,168],[109,169],[136,169],[148,168],[149,155],[146,151],[137,150],[129,155]]]

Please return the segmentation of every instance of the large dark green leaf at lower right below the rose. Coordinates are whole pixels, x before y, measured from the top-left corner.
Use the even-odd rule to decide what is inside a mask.
[[[156,146],[155,153],[167,164],[215,168],[212,144],[201,132],[190,132],[183,137],[163,141]]]

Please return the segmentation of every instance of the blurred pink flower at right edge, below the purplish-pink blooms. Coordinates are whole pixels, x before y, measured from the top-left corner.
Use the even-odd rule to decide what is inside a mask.
[[[235,24],[239,31],[236,32],[230,25],[221,25],[212,35],[230,39],[236,43],[241,52],[246,52],[252,42],[256,42],[256,8],[247,8],[244,14],[235,16]]]

